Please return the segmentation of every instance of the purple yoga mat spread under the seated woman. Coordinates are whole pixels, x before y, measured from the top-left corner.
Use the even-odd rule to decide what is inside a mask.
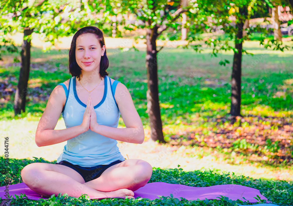
[[[6,187],[0,187],[0,197],[6,199]],[[7,190],[6,190],[7,191]],[[31,200],[39,200],[41,195],[35,193],[28,188],[25,183],[19,183],[16,185],[8,186],[9,195],[15,197],[15,195],[25,194]],[[259,190],[241,186],[241,185],[216,185],[210,187],[190,187],[179,184],[169,184],[164,182],[147,183],[144,187],[134,191],[134,198],[148,198],[151,200],[158,199],[159,196],[170,196],[173,194],[174,198],[181,199],[181,197],[187,200],[214,200],[220,199],[221,196],[228,197],[231,200],[241,200],[243,202],[249,201],[250,203],[258,202],[255,198],[257,195],[261,200],[267,200],[260,194]],[[254,198],[255,197],[255,198]],[[245,199],[244,199],[245,198]],[[46,199],[46,198],[42,198]]]

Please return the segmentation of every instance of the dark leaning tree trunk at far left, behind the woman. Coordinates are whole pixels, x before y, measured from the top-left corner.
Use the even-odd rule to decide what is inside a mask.
[[[33,33],[29,28],[24,29],[24,38]],[[25,112],[25,100],[28,90],[28,77],[30,74],[30,40],[23,39],[21,45],[21,68],[19,73],[18,85],[14,99],[14,114],[21,114],[21,110]]]

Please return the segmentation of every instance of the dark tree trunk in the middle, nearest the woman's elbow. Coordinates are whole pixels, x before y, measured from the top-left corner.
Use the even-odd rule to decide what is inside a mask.
[[[163,136],[163,127],[159,105],[158,65],[156,39],[158,28],[147,29],[147,112],[151,126],[151,139],[166,143]]]

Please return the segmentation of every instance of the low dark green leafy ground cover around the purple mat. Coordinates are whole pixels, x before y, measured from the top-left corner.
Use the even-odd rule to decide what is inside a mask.
[[[0,157],[1,161],[4,161],[3,157]],[[48,162],[42,158],[35,158],[34,160],[29,159],[10,159],[9,170],[4,168],[4,164],[0,165],[1,173],[2,171],[8,172],[10,184],[21,183],[21,170],[27,164],[33,162],[45,162],[45,163],[56,163]],[[4,186],[5,176],[2,174],[0,177],[0,186]],[[153,174],[149,183],[151,182],[166,182],[171,184],[184,184],[193,187],[208,187],[214,185],[222,184],[238,184],[251,188],[260,190],[260,193],[268,198],[273,204],[276,205],[293,205],[293,184],[286,181],[264,181],[260,179],[253,179],[245,176],[236,176],[234,173],[222,173],[215,171],[192,171],[185,172],[183,169],[160,169],[154,168]],[[176,191],[174,191],[175,193]],[[52,196],[49,200],[39,200],[33,201],[28,199],[23,199],[24,196],[19,196],[13,198],[10,205],[213,205],[213,206],[234,206],[243,205],[240,200],[232,201],[228,198],[222,197],[221,200],[198,200],[189,201],[186,199],[178,200],[170,197],[161,197],[161,199],[148,200],[143,198],[137,198],[135,200],[123,200],[123,199],[105,199],[105,200],[88,200],[85,196],[80,198],[69,197],[68,195],[58,195],[56,197]],[[259,203],[265,203],[265,200],[258,199]]]

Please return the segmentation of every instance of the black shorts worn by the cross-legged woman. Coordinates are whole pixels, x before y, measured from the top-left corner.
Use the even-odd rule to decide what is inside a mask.
[[[67,162],[67,161],[61,161],[56,164],[65,165],[65,166],[68,166],[68,167],[74,169],[84,178],[85,182],[88,182],[88,181],[91,181],[91,180],[98,178],[110,166],[113,166],[113,165],[118,164],[120,162],[123,162],[123,161],[117,160],[115,162],[112,162],[111,164],[101,164],[101,165],[93,166],[93,167],[82,167],[82,166],[79,166],[76,164],[71,164],[70,162]]]

